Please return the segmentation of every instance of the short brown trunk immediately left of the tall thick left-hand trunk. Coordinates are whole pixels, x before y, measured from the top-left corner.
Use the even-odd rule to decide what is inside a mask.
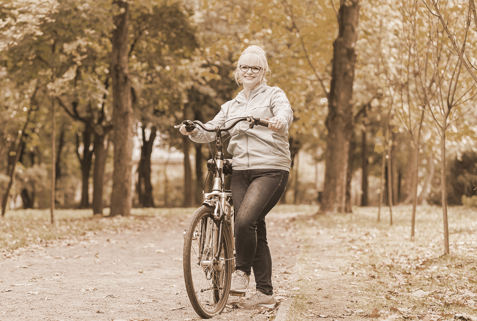
[[[107,157],[107,133],[94,132],[93,214],[103,214],[104,166]]]

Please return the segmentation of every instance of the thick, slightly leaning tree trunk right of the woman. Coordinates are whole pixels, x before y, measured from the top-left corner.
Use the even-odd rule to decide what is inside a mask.
[[[321,211],[345,209],[349,140],[353,130],[353,78],[358,39],[359,1],[341,0],[339,34],[333,43],[332,80],[328,98],[326,170]]]

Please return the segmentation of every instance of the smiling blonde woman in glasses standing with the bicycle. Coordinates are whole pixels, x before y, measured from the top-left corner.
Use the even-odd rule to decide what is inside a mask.
[[[265,51],[259,46],[245,49],[235,70],[235,80],[243,84],[243,90],[207,122],[207,127],[213,128],[248,115],[276,121],[268,128],[255,126],[249,130],[248,123],[240,122],[229,130],[232,137],[228,152],[233,155],[231,190],[237,214],[236,271],[231,291],[247,291],[252,269],[257,283],[257,293],[240,302],[242,308],[256,305],[272,308],[275,304],[265,216],[278,203],[287,185],[291,164],[288,129],[293,112],[283,90],[267,86],[269,73]],[[185,125],[180,132],[195,142],[214,140],[214,133],[187,131]]]

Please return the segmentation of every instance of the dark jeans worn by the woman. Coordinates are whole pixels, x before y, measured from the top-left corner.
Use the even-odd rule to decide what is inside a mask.
[[[265,216],[278,203],[288,182],[288,171],[232,170],[235,219],[235,270],[248,275],[253,269],[257,290],[273,293],[271,256]]]

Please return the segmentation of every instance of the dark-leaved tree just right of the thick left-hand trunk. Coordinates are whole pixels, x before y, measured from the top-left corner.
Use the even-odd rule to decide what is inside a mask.
[[[143,132],[136,201],[150,207],[154,205],[150,158],[155,130],[165,133],[182,120],[187,91],[194,84],[191,77],[200,74],[193,57],[198,45],[196,30],[189,21],[190,12],[180,2],[133,9],[130,74],[135,117]],[[154,131],[150,135],[152,140],[146,139],[146,129]],[[186,177],[192,180],[190,174]]]

